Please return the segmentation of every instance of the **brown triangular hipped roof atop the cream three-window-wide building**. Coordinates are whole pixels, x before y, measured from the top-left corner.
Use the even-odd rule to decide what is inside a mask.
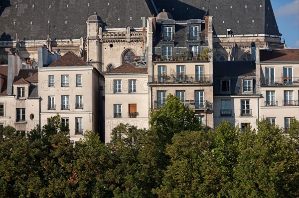
[[[88,66],[88,64],[75,55],[75,53],[69,51],[49,66]]]

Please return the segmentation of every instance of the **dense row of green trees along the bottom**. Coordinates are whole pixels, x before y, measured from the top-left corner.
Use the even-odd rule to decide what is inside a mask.
[[[265,119],[258,132],[223,122],[202,128],[169,95],[151,128],[120,124],[112,141],[86,132],[74,145],[59,116],[27,134],[0,129],[2,198],[297,198],[299,121],[289,134]]]

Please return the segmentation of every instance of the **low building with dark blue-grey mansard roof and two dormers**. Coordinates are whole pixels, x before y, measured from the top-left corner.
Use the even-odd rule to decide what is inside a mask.
[[[243,131],[256,129],[259,119],[256,65],[254,61],[214,62],[214,125],[223,120]]]

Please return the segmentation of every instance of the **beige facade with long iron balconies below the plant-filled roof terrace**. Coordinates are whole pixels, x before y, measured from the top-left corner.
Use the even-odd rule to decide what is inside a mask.
[[[213,127],[213,66],[209,61],[153,62],[149,75],[150,108],[176,95],[207,126]]]

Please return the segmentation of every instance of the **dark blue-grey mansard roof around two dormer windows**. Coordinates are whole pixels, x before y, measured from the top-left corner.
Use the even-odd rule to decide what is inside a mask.
[[[256,65],[252,61],[213,62],[213,92],[214,95],[258,95],[256,93]],[[242,91],[242,80],[252,79],[253,92]],[[221,93],[221,80],[231,80],[231,93]]]

